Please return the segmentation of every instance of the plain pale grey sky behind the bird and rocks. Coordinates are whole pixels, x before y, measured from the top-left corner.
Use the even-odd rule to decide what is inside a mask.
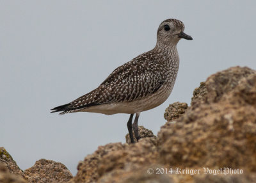
[[[159,24],[182,20],[180,69],[161,106],[141,113],[157,134],[164,109],[190,102],[200,81],[228,67],[256,68],[255,1],[0,1],[0,146],[23,170],[36,160],[78,161],[125,142],[129,115],[50,114],[96,88],[116,67],[156,44]]]

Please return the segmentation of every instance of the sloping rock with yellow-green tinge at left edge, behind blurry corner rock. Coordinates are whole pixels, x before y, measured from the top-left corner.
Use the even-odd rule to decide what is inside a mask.
[[[24,177],[23,171],[20,170],[17,163],[13,160],[12,156],[5,150],[4,147],[0,147],[0,163],[4,164],[10,173],[22,175],[22,177]]]

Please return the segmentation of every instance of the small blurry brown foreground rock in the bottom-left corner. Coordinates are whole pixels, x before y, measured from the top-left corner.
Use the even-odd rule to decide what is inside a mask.
[[[26,183],[26,180],[21,175],[10,173],[6,164],[0,163],[0,183]]]

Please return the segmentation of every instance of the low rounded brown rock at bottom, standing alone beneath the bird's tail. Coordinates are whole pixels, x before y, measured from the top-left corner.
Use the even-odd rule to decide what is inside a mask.
[[[68,182],[72,178],[72,174],[64,164],[46,159],[36,161],[34,166],[24,173],[31,183]]]

